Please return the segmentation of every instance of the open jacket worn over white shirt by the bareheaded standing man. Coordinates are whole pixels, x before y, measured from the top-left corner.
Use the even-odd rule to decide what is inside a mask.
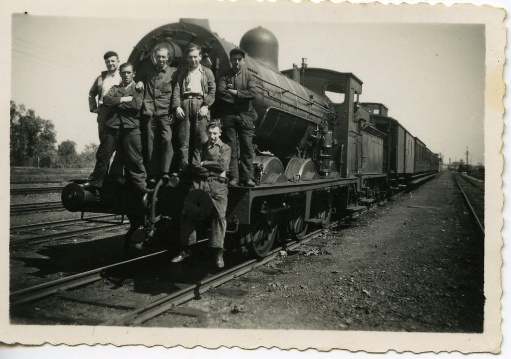
[[[184,98],[184,91],[188,87],[188,73],[189,68],[183,68],[177,76],[176,84],[174,85],[174,92],[172,94],[172,108],[176,109],[181,106],[181,101]],[[215,92],[217,85],[213,72],[199,64],[200,71],[200,85],[202,87],[202,104],[211,107],[215,102]]]

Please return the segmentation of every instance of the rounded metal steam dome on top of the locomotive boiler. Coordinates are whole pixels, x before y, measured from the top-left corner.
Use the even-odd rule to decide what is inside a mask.
[[[240,47],[251,58],[278,72],[278,41],[271,31],[262,27],[248,30],[241,38]]]

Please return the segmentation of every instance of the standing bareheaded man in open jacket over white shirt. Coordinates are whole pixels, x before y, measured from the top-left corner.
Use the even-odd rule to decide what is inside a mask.
[[[172,94],[179,142],[179,170],[190,163],[195,148],[207,141],[206,124],[216,91],[213,72],[200,64],[200,47],[190,44],[186,54],[188,66],[179,73]]]

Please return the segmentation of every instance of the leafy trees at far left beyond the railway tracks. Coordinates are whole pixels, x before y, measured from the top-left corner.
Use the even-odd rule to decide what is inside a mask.
[[[36,115],[32,109],[11,100],[9,161],[12,166],[36,163],[39,167],[94,167],[98,145],[89,143],[78,153],[76,142],[64,140],[57,145],[55,125]]]

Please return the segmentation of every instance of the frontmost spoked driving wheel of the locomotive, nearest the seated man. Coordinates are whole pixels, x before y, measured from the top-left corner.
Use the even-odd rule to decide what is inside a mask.
[[[252,213],[250,217],[248,249],[258,257],[264,257],[273,247],[277,236],[278,216],[276,213]]]

